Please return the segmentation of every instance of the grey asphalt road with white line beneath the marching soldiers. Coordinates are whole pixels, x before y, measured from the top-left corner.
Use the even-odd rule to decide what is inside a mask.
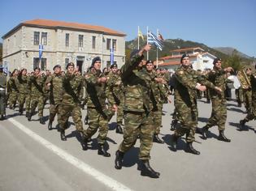
[[[198,127],[202,127],[210,117],[211,105],[203,98],[198,100],[198,109]],[[151,166],[161,172],[159,179],[140,175],[139,141],[124,156],[124,168],[114,168],[115,151],[122,141],[122,135],[115,134],[115,118],[110,122],[107,139],[111,157],[104,158],[97,154],[96,140],[91,149],[82,151],[72,118],[67,142],[62,142],[56,129],[49,131],[47,125],[39,124],[37,115],[28,122],[17,112],[7,109],[7,120],[0,121],[0,190],[3,191],[256,190],[256,121],[249,121],[248,130],[240,131],[238,125],[245,117],[245,108],[236,107],[233,100],[228,101],[225,130],[232,142],[218,141],[218,129],[213,127],[207,140],[196,135],[193,146],[201,155],[184,152],[184,139],[179,141],[177,152],[171,151],[173,104],[164,105],[160,137],[165,143],[154,143],[150,160]],[[83,119],[85,113],[86,109]]]

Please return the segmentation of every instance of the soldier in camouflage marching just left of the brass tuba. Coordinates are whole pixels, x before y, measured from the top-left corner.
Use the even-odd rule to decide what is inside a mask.
[[[225,72],[231,71],[232,67],[222,69],[221,59],[218,57],[215,58],[213,65],[214,68],[208,74],[208,80],[215,84],[215,86],[220,87],[222,92],[219,93],[219,91],[216,91],[215,89],[210,89],[212,111],[209,121],[201,129],[202,138],[206,139],[208,129],[217,125],[219,129],[219,141],[231,142],[230,139],[226,138],[223,132],[227,119],[227,100],[225,99],[224,91],[226,88],[226,83],[228,83],[228,79],[226,78]]]

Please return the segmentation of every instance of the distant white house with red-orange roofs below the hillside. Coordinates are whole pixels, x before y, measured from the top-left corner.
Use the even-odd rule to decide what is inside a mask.
[[[212,69],[212,62],[215,56],[207,53],[200,47],[187,48],[187,49],[174,49],[171,50],[171,55],[167,57],[159,58],[158,67],[167,68],[169,71],[176,70],[180,66],[180,58],[184,53],[188,53],[190,62],[192,63],[194,70],[206,70]]]

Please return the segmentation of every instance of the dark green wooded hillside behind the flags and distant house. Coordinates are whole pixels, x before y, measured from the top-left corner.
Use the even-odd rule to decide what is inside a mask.
[[[146,39],[146,36],[144,36],[144,39]],[[146,40],[144,40],[142,42],[140,40],[140,47],[145,45],[145,43],[146,43]],[[215,55],[216,57],[221,57],[223,59],[223,61],[227,60],[228,57],[230,57],[230,55],[232,55],[232,54],[228,54],[228,53],[219,51],[218,49],[210,48],[207,45],[204,45],[202,43],[193,42],[190,40],[166,39],[166,40],[164,40],[163,45],[164,45],[163,51],[158,51],[158,58],[170,55],[170,51],[173,49],[184,49],[184,48],[191,48],[191,47],[200,47],[200,48],[204,49],[206,52],[209,52],[209,53]],[[125,49],[126,49],[127,56],[129,55],[129,52],[132,49],[137,49],[137,38],[134,40],[126,41]],[[244,55],[244,54],[241,53],[241,55]],[[156,48],[155,47],[150,51],[149,58],[152,60],[156,59]],[[252,58],[251,57],[248,58],[248,56],[241,57],[241,60],[244,63],[252,62]]]

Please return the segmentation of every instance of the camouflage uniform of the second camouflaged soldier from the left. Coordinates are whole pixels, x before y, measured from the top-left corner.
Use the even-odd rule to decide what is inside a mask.
[[[18,89],[19,89],[19,108],[20,108],[20,114],[23,113],[24,109],[24,103],[26,102],[26,113],[28,116],[29,108],[30,108],[30,101],[29,101],[29,77],[27,75],[19,74],[17,78],[18,82]]]

